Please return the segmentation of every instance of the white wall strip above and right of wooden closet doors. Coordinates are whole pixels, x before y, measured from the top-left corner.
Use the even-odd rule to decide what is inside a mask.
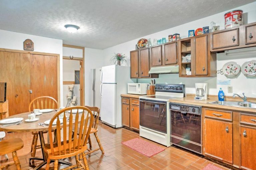
[[[60,54],[60,104],[62,104],[62,40],[0,30],[0,48],[23,50],[23,42],[26,39],[34,42],[34,51]]]

